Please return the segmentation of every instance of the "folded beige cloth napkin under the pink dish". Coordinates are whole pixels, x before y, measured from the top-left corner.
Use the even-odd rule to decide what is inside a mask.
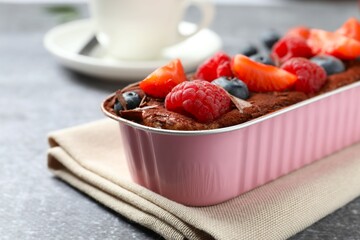
[[[188,207],[134,182],[115,121],[49,134],[49,169],[165,239],[286,239],[360,195],[360,143],[209,207]]]

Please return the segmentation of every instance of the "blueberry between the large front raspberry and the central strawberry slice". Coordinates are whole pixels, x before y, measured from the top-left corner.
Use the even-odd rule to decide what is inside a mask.
[[[250,94],[248,87],[243,81],[239,80],[238,78],[227,79],[225,77],[219,77],[211,83],[224,88],[228,93],[237,98],[249,98]]]

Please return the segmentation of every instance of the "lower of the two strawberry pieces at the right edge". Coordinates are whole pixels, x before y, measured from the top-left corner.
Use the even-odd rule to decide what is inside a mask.
[[[339,33],[312,29],[307,43],[315,55],[328,54],[344,60],[360,56],[360,41]]]

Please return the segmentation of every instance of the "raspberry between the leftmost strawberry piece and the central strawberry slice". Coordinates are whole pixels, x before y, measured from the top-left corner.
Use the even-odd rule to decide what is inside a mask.
[[[209,82],[219,77],[233,77],[230,61],[226,53],[218,52],[198,67],[195,77]]]

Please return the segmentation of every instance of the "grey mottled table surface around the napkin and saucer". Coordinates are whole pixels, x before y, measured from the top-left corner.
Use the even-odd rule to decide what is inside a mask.
[[[87,17],[86,6],[74,7],[79,17]],[[161,239],[47,170],[47,133],[104,118],[100,102],[123,84],[60,66],[42,39],[62,18],[45,9],[0,3],[0,239]],[[259,43],[269,28],[283,32],[305,24],[332,30],[358,15],[356,1],[219,5],[211,28],[234,54],[247,41]],[[360,239],[359,224],[360,198],[291,239]]]

